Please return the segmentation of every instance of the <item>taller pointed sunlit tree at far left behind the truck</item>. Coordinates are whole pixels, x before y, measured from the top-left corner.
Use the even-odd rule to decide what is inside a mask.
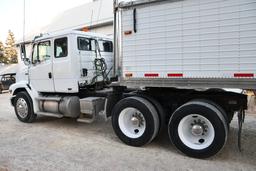
[[[8,31],[8,36],[5,43],[5,58],[7,63],[17,63],[17,51],[15,49],[15,37],[11,30]]]

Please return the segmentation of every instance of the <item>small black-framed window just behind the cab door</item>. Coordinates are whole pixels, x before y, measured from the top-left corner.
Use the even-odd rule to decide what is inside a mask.
[[[54,56],[62,58],[68,56],[68,38],[60,38],[54,40]]]

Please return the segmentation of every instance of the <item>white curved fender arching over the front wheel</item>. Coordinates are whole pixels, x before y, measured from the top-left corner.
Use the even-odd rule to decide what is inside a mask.
[[[36,113],[37,111],[39,111],[38,101],[36,100],[39,94],[37,91],[35,91],[35,89],[31,85],[28,84],[27,81],[24,81],[24,80],[19,81],[10,86],[9,91],[11,93],[11,98],[10,98],[11,104],[13,105],[12,102],[16,97],[16,94],[24,90],[29,94],[30,98],[32,99],[34,112]]]

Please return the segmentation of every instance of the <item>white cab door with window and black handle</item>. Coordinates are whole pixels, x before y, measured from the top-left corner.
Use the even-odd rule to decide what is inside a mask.
[[[34,44],[32,64],[29,69],[30,83],[39,92],[54,92],[52,75],[51,41],[45,40]]]

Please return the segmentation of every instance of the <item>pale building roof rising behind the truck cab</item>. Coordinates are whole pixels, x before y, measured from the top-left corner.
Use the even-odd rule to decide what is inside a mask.
[[[44,32],[84,30],[113,34],[113,0],[93,0],[57,16]]]

